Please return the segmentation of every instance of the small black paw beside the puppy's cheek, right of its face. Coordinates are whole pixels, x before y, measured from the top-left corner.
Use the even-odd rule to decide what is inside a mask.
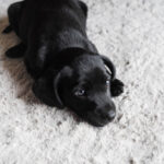
[[[121,93],[124,93],[124,86],[125,85],[120,80],[115,79],[110,86],[112,96],[119,96]]]

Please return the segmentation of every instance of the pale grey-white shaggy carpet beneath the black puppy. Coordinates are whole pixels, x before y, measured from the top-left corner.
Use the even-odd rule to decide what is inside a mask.
[[[0,32],[14,1],[0,0]],[[95,128],[42,104],[22,59],[4,56],[19,38],[0,34],[0,164],[164,164],[164,1],[85,2],[89,37],[126,84],[116,119]]]

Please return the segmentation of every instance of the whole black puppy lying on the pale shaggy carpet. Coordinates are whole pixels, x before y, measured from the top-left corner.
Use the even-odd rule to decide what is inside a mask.
[[[94,126],[115,118],[113,96],[122,93],[113,62],[89,40],[87,7],[79,0],[25,0],[10,5],[10,25],[21,43],[7,51],[24,57],[35,95],[49,106],[71,108]]]

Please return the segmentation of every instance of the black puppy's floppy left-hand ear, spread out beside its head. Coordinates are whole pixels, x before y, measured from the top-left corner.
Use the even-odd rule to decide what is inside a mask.
[[[48,69],[33,85],[34,94],[46,105],[63,108],[65,105],[59,94],[59,83],[61,78],[68,72],[68,69],[56,71]]]

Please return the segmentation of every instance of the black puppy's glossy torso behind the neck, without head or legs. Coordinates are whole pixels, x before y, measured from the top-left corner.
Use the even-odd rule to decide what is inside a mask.
[[[87,10],[83,8],[84,3],[78,0],[26,0],[21,5],[17,35],[27,46],[25,61],[34,78],[39,77],[46,65],[56,60],[63,49],[78,47],[96,52],[85,33]]]

